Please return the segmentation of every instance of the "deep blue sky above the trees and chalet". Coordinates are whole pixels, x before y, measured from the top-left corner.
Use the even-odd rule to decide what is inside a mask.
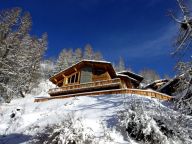
[[[0,9],[21,7],[32,16],[32,34],[48,33],[46,57],[90,43],[104,58],[139,72],[174,74],[170,56],[177,25],[167,16],[176,0],[0,0]]]

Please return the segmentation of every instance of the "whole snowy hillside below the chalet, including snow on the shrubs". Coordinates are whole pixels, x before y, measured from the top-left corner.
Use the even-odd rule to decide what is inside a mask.
[[[179,135],[185,134],[185,138],[181,139],[174,126],[178,124],[176,120],[180,114],[167,107],[166,102],[138,95],[82,96],[33,102],[36,96],[47,96],[46,91],[50,87],[53,86],[49,82],[42,82],[26,98],[15,99],[9,104],[3,103],[0,106],[0,143],[40,143],[38,139],[43,138],[42,134],[45,134],[46,130],[52,132],[47,127],[57,130],[64,129],[65,133],[60,133],[60,140],[63,143],[66,133],[70,139],[77,138],[70,131],[71,129],[81,134],[78,134],[80,139],[91,139],[91,142],[88,143],[142,143],[134,136],[127,136],[126,132],[122,131],[125,129],[123,124],[130,122],[129,117],[132,114],[134,114],[134,120],[139,120],[140,124],[146,125],[143,133],[147,135],[155,133],[154,136],[158,136],[161,143],[182,143],[183,139],[186,143],[191,142],[189,133],[191,117],[183,117],[182,122],[179,122],[181,126],[177,126],[180,131]],[[136,106],[134,110],[131,109],[133,105]],[[137,113],[137,109],[142,113],[140,113],[141,111]],[[137,114],[141,119],[137,117]],[[127,118],[122,121],[121,116],[127,116]],[[168,118],[168,116],[170,117]],[[158,125],[158,120],[162,119],[164,119],[162,122],[167,122],[164,127],[167,128],[167,133],[171,131],[170,135],[165,134],[162,127]],[[187,126],[182,125],[185,119],[188,120]],[[71,125],[66,130],[68,122]]]

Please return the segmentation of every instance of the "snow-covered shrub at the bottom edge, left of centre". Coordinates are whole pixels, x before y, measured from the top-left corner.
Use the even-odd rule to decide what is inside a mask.
[[[91,128],[85,127],[80,118],[68,115],[60,124],[47,125],[31,143],[36,144],[90,144],[95,136]]]

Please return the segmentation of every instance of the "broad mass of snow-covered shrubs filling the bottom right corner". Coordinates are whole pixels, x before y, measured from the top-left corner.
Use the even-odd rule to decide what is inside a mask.
[[[146,144],[192,143],[192,119],[161,107],[130,103],[118,113],[117,127],[127,139]]]

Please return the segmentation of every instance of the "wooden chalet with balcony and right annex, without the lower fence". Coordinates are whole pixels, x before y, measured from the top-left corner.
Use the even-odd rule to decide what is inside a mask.
[[[51,96],[88,91],[137,88],[140,83],[138,79],[130,75],[124,73],[116,74],[111,63],[94,60],[82,60],[52,76],[50,81],[58,86],[58,88],[49,90]]]

